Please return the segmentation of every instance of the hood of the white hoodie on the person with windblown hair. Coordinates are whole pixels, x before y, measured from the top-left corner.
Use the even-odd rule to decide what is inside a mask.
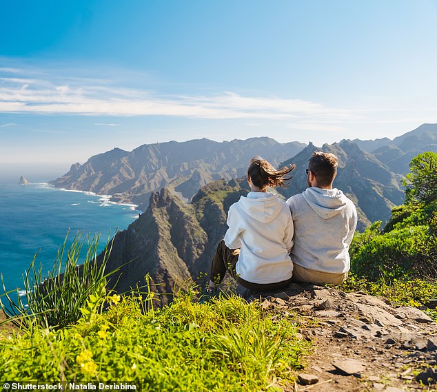
[[[278,195],[270,193],[263,198],[241,196],[238,204],[248,216],[261,223],[272,222],[283,208],[283,203],[279,200]]]

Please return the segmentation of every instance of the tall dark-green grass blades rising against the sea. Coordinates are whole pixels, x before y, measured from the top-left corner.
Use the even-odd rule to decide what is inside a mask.
[[[103,262],[100,265],[96,262],[97,247],[100,236],[81,238],[78,234],[69,249],[65,249],[68,241],[68,234],[58,250],[54,260],[52,271],[48,277],[43,276],[42,266],[36,267],[37,256],[30,263],[30,267],[24,278],[24,289],[26,290],[26,303],[21,301],[18,296],[14,300],[10,293],[6,293],[3,282],[3,292],[5,293],[8,306],[0,300],[0,307],[9,316],[14,324],[19,327],[28,327],[23,324],[31,321],[41,327],[66,327],[72,322],[81,318],[81,308],[101,287],[105,287],[106,262],[110,254],[110,242],[103,255]],[[85,245],[85,258],[82,260],[83,247]],[[83,264],[79,265],[79,262]],[[112,273],[111,273],[112,274]],[[31,318],[23,316],[29,315]]]

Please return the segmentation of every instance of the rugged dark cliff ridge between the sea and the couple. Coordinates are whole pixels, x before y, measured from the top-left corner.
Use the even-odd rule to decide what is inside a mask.
[[[152,193],[146,212],[114,238],[107,271],[119,271],[110,277],[110,287],[116,283],[120,293],[141,287],[149,274],[165,304],[179,287],[205,282],[227,229],[227,210],[242,194],[247,189],[225,180],[201,188],[188,205],[165,188]]]

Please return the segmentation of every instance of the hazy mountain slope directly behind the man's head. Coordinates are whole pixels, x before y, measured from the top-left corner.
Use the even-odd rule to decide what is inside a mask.
[[[400,188],[401,176],[389,171],[386,165],[351,141],[315,147],[309,144],[283,165],[294,163],[293,178],[289,187],[279,189],[285,197],[301,193],[307,187],[305,169],[314,151],[332,152],[338,156],[338,174],[334,186],[351,198],[358,210],[358,229],[363,229],[375,220],[389,219],[392,207],[404,201]]]

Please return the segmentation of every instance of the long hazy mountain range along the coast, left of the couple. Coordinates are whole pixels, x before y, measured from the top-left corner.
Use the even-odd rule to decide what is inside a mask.
[[[305,146],[264,137],[222,143],[206,138],[183,143],[170,141],[141,145],[132,152],[115,148],[92,156],[83,165],[72,165],[67,174],[52,184],[110,194],[114,201],[133,201],[145,210],[150,194],[163,187],[187,201],[213,180],[230,180],[245,174],[247,163],[255,155],[278,163]]]

